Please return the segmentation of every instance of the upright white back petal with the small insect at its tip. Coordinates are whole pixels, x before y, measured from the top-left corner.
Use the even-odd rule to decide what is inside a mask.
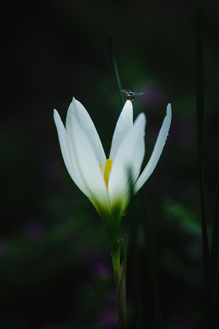
[[[127,100],[122,109],[120,117],[118,118],[118,121],[115,126],[115,131],[112,137],[112,144],[111,144],[111,150],[109,156],[112,162],[114,161],[114,158],[116,156],[116,153],[118,151],[118,148],[120,147],[123,138],[125,137],[126,133],[129,131],[129,129],[132,126],[133,126],[132,102]]]

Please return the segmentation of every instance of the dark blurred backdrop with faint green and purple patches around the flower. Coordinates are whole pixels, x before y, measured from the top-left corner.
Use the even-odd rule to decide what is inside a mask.
[[[195,100],[198,4],[170,0],[6,4],[1,28],[1,329],[116,328],[107,235],[95,209],[67,173],[53,122],[53,108],[65,121],[74,96],[87,108],[109,154],[122,108],[108,30],[122,88],[144,92],[133,106],[134,117],[140,112],[147,116],[146,160],[166,105],[172,104],[164,152],[141,192],[147,195],[157,252],[164,327],[206,327]],[[213,0],[201,5],[205,196],[211,240],[218,159],[219,6]],[[155,306],[146,213],[138,198],[128,208],[120,234],[128,249],[128,323],[129,328],[141,327],[142,308],[143,323],[150,328]],[[131,232],[138,236],[135,254]]]

